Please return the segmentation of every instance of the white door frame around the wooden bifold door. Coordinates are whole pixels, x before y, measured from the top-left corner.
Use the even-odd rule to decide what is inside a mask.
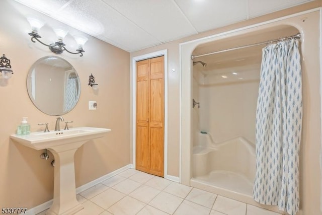
[[[164,178],[169,179],[168,175],[168,49],[155,51],[140,56],[132,57],[132,167],[135,169],[135,151],[136,151],[136,61],[148,58],[164,56]]]

